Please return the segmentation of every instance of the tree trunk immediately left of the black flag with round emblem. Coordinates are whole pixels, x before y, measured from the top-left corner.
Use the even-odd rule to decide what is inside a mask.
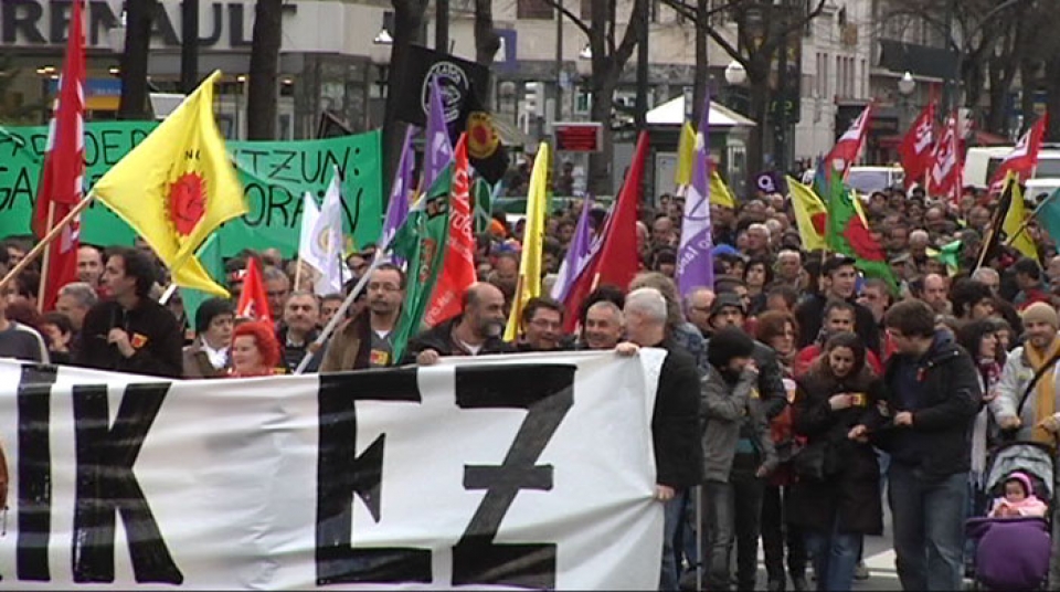
[[[404,124],[395,117],[398,103],[402,96],[405,62],[409,61],[409,47],[421,41],[423,15],[427,10],[426,0],[393,0],[394,43],[390,51],[390,71],[386,75],[386,106],[383,113],[383,184],[390,186],[401,158],[401,144],[404,140]],[[414,92],[412,88],[409,92]],[[418,92],[418,91],[415,91]],[[424,188],[426,189],[426,188]]]

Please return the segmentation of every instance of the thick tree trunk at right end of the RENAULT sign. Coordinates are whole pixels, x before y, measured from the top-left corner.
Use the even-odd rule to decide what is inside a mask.
[[[279,44],[283,40],[283,0],[257,0],[246,89],[246,139],[276,139],[279,88]]]

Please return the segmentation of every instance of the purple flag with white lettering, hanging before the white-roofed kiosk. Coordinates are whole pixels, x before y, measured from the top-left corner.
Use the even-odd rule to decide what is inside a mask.
[[[677,253],[677,277],[681,297],[700,287],[714,287],[713,239],[710,226],[710,95],[696,134],[692,184],[685,197],[681,245]]]

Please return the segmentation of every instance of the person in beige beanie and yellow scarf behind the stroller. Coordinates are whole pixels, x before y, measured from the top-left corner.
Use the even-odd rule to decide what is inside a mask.
[[[1020,317],[1024,346],[1008,356],[990,410],[1001,430],[1016,432],[1018,440],[1056,446],[1060,433],[1060,316],[1046,303],[1032,303]]]

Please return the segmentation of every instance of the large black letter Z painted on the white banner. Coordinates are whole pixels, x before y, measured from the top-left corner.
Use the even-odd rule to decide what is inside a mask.
[[[541,452],[574,404],[574,366],[481,366],[456,369],[460,409],[526,409],[527,419],[500,466],[464,467],[464,488],[486,489],[453,548],[453,585],[555,588],[555,543],[494,543],[520,489],[552,489]]]

